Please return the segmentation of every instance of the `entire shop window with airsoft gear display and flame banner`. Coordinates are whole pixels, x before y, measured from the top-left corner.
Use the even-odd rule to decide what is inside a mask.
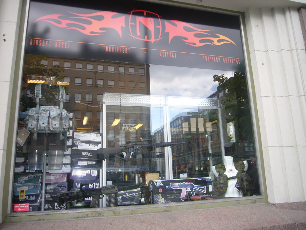
[[[158,11],[152,9],[159,5],[132,3],[141,9],[149,7],[149,12]],[[73,38],[70,38],[71,44],[51,42],[48,43],[51,48],[46,49],[36,45],[38,38],[33,40],[37,33],[33,27],[35,23],[38,31],[48,26],[49,33],[64,33],[58,21],[65,23],[65,14],[56,16],[56,5],[48,4],[52,13],[45,7],[45,11],[35,15],[35,10],[42,9],[45,4],[31,1],[29,10],[13,211],[209,202],[211,199],[260,195],[237,16],[218,14],[233,21],[228,28],[221,22],[220,26],[218,23],[202,25],[201,22],[196,24],[196,18],[191,21],[185,18],[185,22],[184,17],[170,18],[177,21],[161,21],[159,15],[151,15],[154,23],[159,23],[155,29],[166,26],[167,33],[160,33],[168,34],[168,40],[162,43],[162,36],[159,36],[156,38],[159,44],[169,46],[172,39],[174,43],[181,42],[184,50],[177,52],[177,47],[172,47],[173,52],[159,51],[161,48],[155,47],[152,37],[158,33],[151,33],[146,39],[139,38],[147,43],[134,50],[132,47],[136,46],[138,38],[132,26],[129,33],[115,28],[106,35],[99,29],[88,32],[72,27],[71,36],[83,39],[83,43],[79,43],[84,44],[75,56],[67,52],[74,47]],[[108,15],[110,11],[106,13],[103,6],[97,10],[63,8],[65,12],[82,14],[83,20],[100,15],[116,18],[120,24],[125,23],[123,18],[128,15],[123,12],[134,9],[123,6],[113,9],[112,13],[119,12],[116,17]],[[150,28],[140,11],[135,11],[135,17]],[[134,15],[130,16],[132,20]],[[68,18],[72,20],[71,17],[65,20]],[[80,23],[83,22],[76,24]],[[182,40],[173,28],[175,23],[176,28],[189,26],[186,34],[193,36],[192,39]],[[216,31],[211,33],[211,30]],[[93,33],[96,35],[92,36]],[[132,36],[131,44],[120,46],[120,35]],[[37,44],[42,41],[47,44],[47,36],[50,35]],[[84,41],[99,36],[110,40],[118,36],[116,39],[120,42],[105,46],[98,40]],[[147,48],[148,44],[153,45]],[[211,55],[200,53],[207,44],[211,47]],[[169,50],[165,47],[163,50]],[[61,51],[53,52],[53,48]],[[98,48],[105,56],[95,53]],[[131,54],[140,49],[146,50],[143,53],[148,56]],[[220,58],[226,49],[230,51],[223,56],[228,58]],[[150,50],[156,53],[151,55]],[[237,57],[230,58],[230,52]],[[181,53],[188,57],[182,57]],[[189,58],[197,61],[189,62]],[[75,69],[70,68],[70,63],[75,64]],[[86,66],[86,70],[82,70],[82,66]],[[122,75],[127,69],[129,75]],[[82,80],[86,84],[82,85]],[[104,80],[108,87],[103,87]],[[125,82],[129,82],[129,87],[125,87]],[[69,95],[74,95],[74,100],[69,100]],[[18,210],[21,203],[25,206]]]

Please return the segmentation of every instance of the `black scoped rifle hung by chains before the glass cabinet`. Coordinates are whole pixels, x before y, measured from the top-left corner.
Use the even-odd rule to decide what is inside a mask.
[[[142,140],[143,141],[143,140]],[[145,141],[151,141],[150,139],[146,139]],[[105,160],[110,157],[116,157],[121,160],[129,161],[131,155],[136,155],[137,151],[143,148],[162,148],[162,147],[171,147],[174,144],[184,144],[185,142],[181,143],[171,143],[171,142],[160,142],[155,144],[132,144],[132,140],[126,141],[127,143],[131,143],[129,145],[124,145],[121,147],[110,147],[110,148],[99,148],[97,149],[98,152],[98,159]],[[136,142],[136,140],[135,140]]]

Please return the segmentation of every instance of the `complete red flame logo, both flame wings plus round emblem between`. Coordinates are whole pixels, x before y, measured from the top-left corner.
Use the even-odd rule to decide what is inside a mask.
[[[103,35],[107,31],[107,28],[112,28],[112,29],[115,29],[119,33],[120,37],[122,37],[121,29],[122,27],[125,27],[125,16],[120,17],[119,13],[111,12],[111,11],[100,11],[100,12],[91,13],[91,14],[78,14],[78,13],[73,13],[70,11],[68,12],[74,15],[77,15],[79,17],[68,17],[63,14],[50,14],[50,15],[40,17],[36,21],[50,22],[53,25],[56,25],[58,27],[66,28],[66,29],[75,29],[75,30],[80,31],[81,33],[91,35],[91,36],[92,35]],[[136,11],[133,11],[133,12],[136,12]],[[144,11],[144,12],[148,12],[148,11]],[[103,16],[103,19],[96,20],[96,19],[90,18],[94,16]],[[68,17],[68,19],[63,19],[64,17]],[[73,21],[73,19],[75,20]],[[88,23],[87,24],[80,23],[78,22],[77,19],[87,20]],[[147,29],[149,29],[153,33],[154,32],[154,28],[152,24],[153,19],[151,20],[150,18],[145,18],[145,20],[147,20],[146,21],[147,23],[144,23],[147,26]],[[170,21],[174,25],[165,21],[165,32],[169,33],[169,44],[175,36],[180,36],[180,37],[186,38],[186,39],[181,39],[185,42],[185,44],[195,46],[195,47],[200,47],[206,44],[221,45],[224,43],[232,43],[236,45],[232,40],[230,40],[226,36],[223,36],[220,34],[211,35],[210,33],[206,33],[207,31],[211,31],[211,30],[198,29],[183,21],[177,21],[177,20],[170,20]],[[84,29],[81,29],[83,27]],[[156,26],[156,27],[160,27],[160,26]],[[137,29],[139,30],[138,27]],[[139,33],[139,31],[137,32]],[[136,38],[135,36],[132,36],[132,37]],[[152,42],[155,41],[153,39],[154,38],[151,39]],[[156,41],[160,39],[161,38],[159,34],[159,38],[156,39]],[[142,39],[142,40],[146,40],[146,39]]]

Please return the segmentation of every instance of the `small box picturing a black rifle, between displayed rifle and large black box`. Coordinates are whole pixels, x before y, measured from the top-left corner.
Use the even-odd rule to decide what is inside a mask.
[[[141,204],[146,204],[144,193],[142,194],[141,189],[133,189],[126,191],[118,191],[117,195],[118,206],[121,205],[139,205],[141,199]]]

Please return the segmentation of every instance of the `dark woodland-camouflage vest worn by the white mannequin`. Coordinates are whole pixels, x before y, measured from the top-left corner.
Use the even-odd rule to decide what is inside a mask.
[[[220,196],[224,197],[228,181],[231,179],[238,180],[238,184],[240,186],[241,191],[243,192],[244,196],[249,196],[252,192],[252,185],[251,185],[251,178],[250,176],[244,171],[245,165],[243,161],[239,161],[234,163],[235,168],[238,170],[237,175],[233,177],[227,177],[225,172],[225,165],[218,164],[215,166],[216,172],[218,176],[214,180],[214,191],[213,196]]]

